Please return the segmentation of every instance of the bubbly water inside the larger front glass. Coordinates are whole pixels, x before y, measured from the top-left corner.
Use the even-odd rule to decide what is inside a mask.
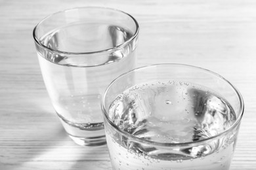
[[[229,168],[237,129],[221,133],[236,114],[211,89],[175,80],[137,84],[116,97],[108,116],[126,134],[106,129],[115,170]]]

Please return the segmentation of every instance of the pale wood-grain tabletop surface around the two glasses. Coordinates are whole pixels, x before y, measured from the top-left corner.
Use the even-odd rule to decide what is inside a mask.
[[[231,170],[256,167],[256,1],[0,1],[0,169],[112,169],[106,146],[77,146],[54,114],[33,44],[33,27],[73,7],[132,14],[138,66],[185,63],[215,71],[242,93],[245,112]]]

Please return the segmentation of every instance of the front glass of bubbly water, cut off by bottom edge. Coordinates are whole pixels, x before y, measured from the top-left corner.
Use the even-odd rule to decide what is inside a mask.
[[[102,110],[115,170],[226,170],[244,102],[216,73],[159,64],[116,78]]]

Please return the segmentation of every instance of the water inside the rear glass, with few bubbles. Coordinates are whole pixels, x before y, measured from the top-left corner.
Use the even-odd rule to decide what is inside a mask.
[[[41,44],[52,49],[38,52],[45,86],[71,137],[104,136],[101,95],[114,78],[135,67],[134,49],[116,48],[132,36],[122,27],[92,22],[42,37]]]

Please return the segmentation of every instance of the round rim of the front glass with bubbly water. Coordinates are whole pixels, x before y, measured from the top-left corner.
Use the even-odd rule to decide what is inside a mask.
[[[206,138],[206,139],[202,139],[200,141],[193,141],[193,142],[186,142],[186,143],[160,143],[160,142],[154,142],[154,141],[148,141],[146,139],[140,139],[139,137],[135,137],[134,135],[131,135],[130,133],[127,133],[127,131],[122,131],[121,129],[119,129],[119,127],[116,126],[116,124],[114,124],[110,118],[108,117],[108,112],[106,112],[106,106],[105,106],[105,98],[106,98],[106,94],[108,93],[108,90],[110,89],[110,87],[112,86],[112,84],[114,84],[114,82],[118,81],[119,78],[122,78],[123,76],[129,75],[130,73],[134,73],[138,70],[142,70],[142,69],[149,69],[150,67],[158,67],[161,65],[178,65],[178,66],[183,66],[183,67],[190,67],[193,69],[198,69],[201,71],[205,71],[207,73],[210,73],[211,75],[217,76],[219,78],[221,78],[222,80],[224,80],[224,82],[228,83],[231,88],[236,92],[236,95],[238,95],[239,101],[240,101],[240,110],[238,112],[238,118],[236,118],[236,121],[234,122],[234,124],[232,124],[232,126],[228,127],[227,129],[225,129],[224,131],[222,131],[221,133],[217,134],[217,135],[213,135],[212,137]],[[128,71],[127,73],[123,73],[122,75],[118,76],[115,80],[113,80],[108,88],[106,88],[104,95],[102,95],[102,102],[101,102],[101,108],[102,108],[102,112],[104,114],[104,118],[106,118],[106,120],[108,121],[108,123],[110,124],[110,126],[114,127],[114,129],[116,129],[116,131],[118,131],[118,133],[121,133],[122,135],[124,135],[125,137],[127,137],[127,139],[132,139],[133,141],[138,141],[140,143],[144,143],[144,144],[150,144],[150,145],[156,145],[156,146],[187,146],[187,145],[194,145],[194,144],[200,144],[200,143],[205,143],[206,141],[211,141],[213,139],[217,139],[218,137],[221,137],[223,135],[225,135],[226,133],[228,133],[228,131],[234,129],[236,126],[238,126],[238,124],[240,124],[241,120],[242,120],[242,116],[244,114],[244,99],[242,98],[241,93],[238,91],[238,89],[232,85],[228,80],[226,80],[226,78],[224,78],[223,76],[210,71],[208,69],[203,69],[202,67],[196,67],[193,65],[186,65],[186,64],[180,64],[180,63],[158,63],[158,64],[153,64],[153,65],[145,65],[142,67],[138,67],[136,69],[133,69],[131,71]]]

